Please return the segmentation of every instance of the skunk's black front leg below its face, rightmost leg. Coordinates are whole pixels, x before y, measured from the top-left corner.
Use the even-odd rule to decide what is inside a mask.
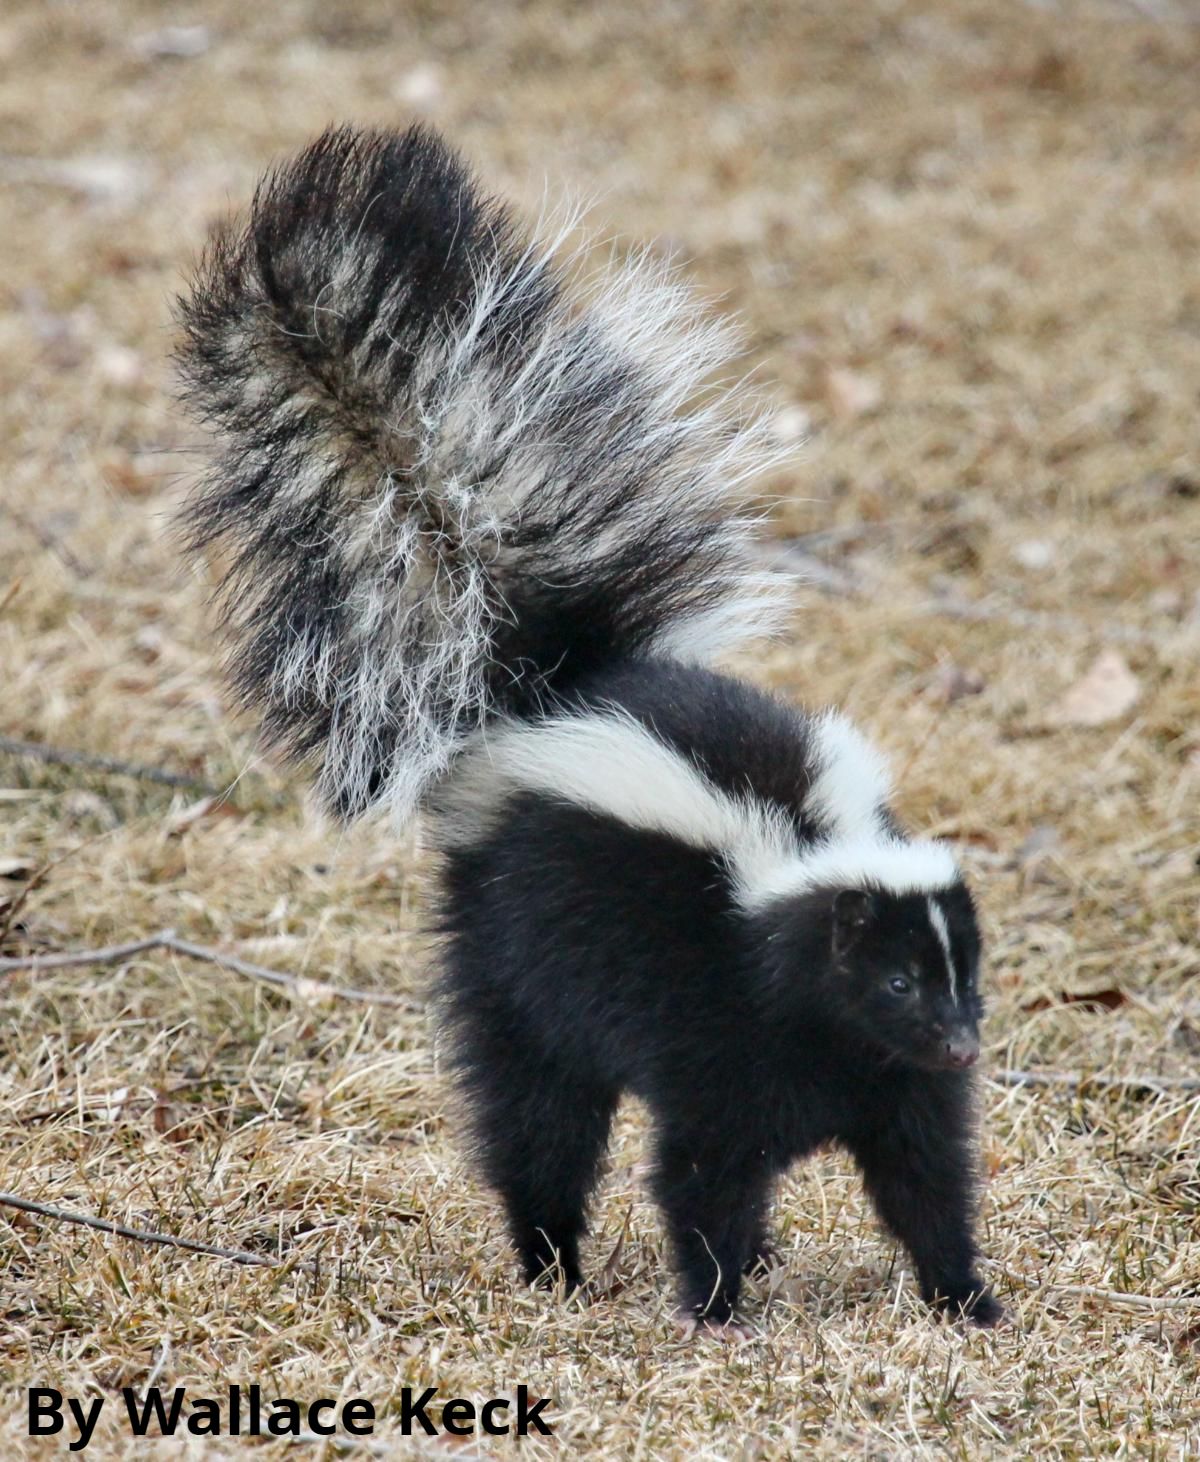
[[[848,1146],[880,1218],[912,1254],[925,1303],[990,1326],[1004,1308],[976,1272],[971,1105],[966,1079],[928,1076],[880,1102]]]

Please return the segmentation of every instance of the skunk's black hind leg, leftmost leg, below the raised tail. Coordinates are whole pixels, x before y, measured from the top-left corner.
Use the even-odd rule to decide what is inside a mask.
[[[579,1288],[579,1240],[617,1105],[554,1057],[503,1038],[462,1061],[484,1174],[531,1284]]]

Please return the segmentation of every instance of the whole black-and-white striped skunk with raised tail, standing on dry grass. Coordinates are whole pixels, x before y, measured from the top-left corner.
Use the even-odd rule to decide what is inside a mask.
[[[738,488],[770,436],[652,254],[574,279],[431,132],[327,132],[180,301],[240,700],[342,817],[428,819],[482,1170],[582,1282],[618,1096],[656,1124],[686,1326],[728,1325],[775,1178],[857,1159],[931,1304],[976,1269],[979,933],[881,759],[706,662],[776,623]]]

